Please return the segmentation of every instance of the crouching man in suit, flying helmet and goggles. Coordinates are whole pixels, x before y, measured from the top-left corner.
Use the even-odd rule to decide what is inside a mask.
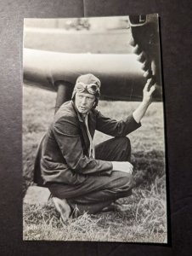
[[[74,208],[82,214],[115,206],[117,199],[131,195],[135,185],[126,136],[140,127],[155,86],[149,90],[150,82],[145,85],[143,102],[121,121],[96,109],[100,86],[93,74],[80,76],[71,101],[61,105],[43,140],[42,178],[64,221]],[[94,147],[95,130],[113,138]]]

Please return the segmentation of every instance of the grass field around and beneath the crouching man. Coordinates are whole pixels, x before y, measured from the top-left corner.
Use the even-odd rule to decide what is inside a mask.
[[[37,145],[54,116],[56,94],[24,86],[23,90],[23,195],[32,184]],[[120,119],[137,108],[138,102],[99,102],[99,110]],[[99,132],[95,143],[108,137]],[[148,171],[148,177],[133,195],[121,199],[127,212],[85,213],[59,221],[53,202],[45,207],[23,206],[24,240],[167,242],[166,172],[163,109],[152,103],[142,127],[129,138],[132,142],[134,172]]]

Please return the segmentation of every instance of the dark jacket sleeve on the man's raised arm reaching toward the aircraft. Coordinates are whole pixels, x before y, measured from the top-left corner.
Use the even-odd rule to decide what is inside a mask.
[[[138,129],[141,123],[137,123],[133,118],[133,114],[130,114],[127,119],[117,121],[116,119],[110,119],[105,117],[102,113],[97,111],[97,125],[98,131],[104,132],[107,135],[113,137],[125,137],[132,131]]]

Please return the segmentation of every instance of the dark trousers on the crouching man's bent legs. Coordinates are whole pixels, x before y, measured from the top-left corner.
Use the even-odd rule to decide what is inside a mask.
[[[112,138],[95,147],[95,158],[110,161],[129,161],[131,155],[130,141],[127,137]],[[80,213],[96,213],[121,197],[132,194],[133,179],[126,172],[111,172],[107,176],[88,176],[79,185],[52,183],[49,189],[52,195],[65,198],[72,208]]]

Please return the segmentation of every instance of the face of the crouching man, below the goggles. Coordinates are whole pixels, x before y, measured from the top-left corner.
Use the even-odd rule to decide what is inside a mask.
[[[89,93],[76,92],[76,108],[79,113],[86,114],[94,106],[95,96]]]

